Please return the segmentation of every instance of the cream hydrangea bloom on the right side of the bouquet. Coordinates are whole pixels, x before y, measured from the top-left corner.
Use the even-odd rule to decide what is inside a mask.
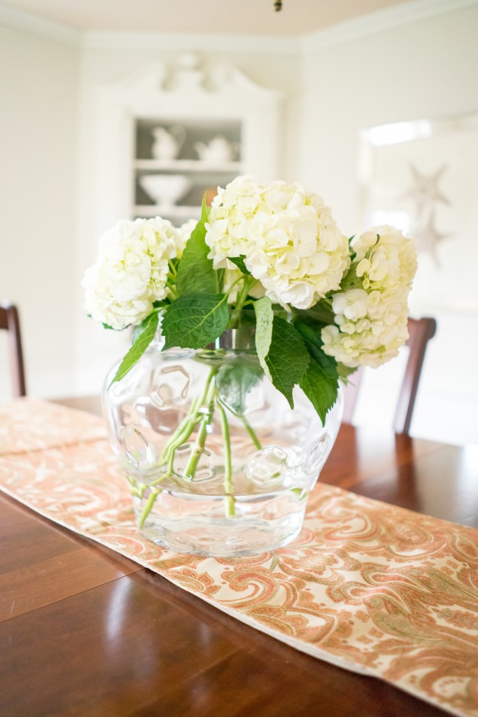
[[[408,338],[408,293],[416,272],[416,250],[393,227],[374,227],[352,244],[355,253],[345,282],[332,297],[335,325],[322,328],[323,350],[345,366],[381,366]]]

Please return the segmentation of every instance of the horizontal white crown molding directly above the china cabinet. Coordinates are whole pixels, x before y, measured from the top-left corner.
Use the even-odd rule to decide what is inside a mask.
[[[166,32],[86,32],[88,49],[154,49],[195,52],[264,52],[300,54],[300,38],[246,34],[196,34]]]

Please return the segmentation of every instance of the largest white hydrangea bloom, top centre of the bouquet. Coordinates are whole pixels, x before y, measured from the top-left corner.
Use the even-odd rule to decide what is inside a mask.
[[[328,206],[300,184],[238,177],[219,190],[206,224],[214,267],[244,256],[273,302],[310,308],[340,288],[350,266],[348,239]]]

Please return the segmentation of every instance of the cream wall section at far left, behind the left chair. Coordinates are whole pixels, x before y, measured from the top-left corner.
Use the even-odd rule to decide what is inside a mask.
[[[72,389],[79,66],[79,49],[0,26],[0,298],[19,305],[41,396]]]

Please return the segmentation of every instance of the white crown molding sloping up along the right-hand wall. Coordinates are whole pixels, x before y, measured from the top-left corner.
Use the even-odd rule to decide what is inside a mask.
[[[322,49],[477,6],[478,0],[414,0],[305,35],[300,40],[300,51],[305,55],[315,54]]]

